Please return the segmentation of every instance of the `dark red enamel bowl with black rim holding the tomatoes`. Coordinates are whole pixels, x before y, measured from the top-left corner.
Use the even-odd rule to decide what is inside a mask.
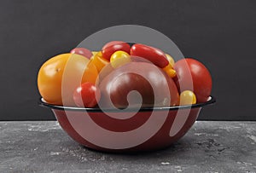
[[[195,123],[201,107],[214,103],[210,96],[204,103],[179,107],[147,107],[117,111],[100,108],[60,107],[43,99],[61,128],[85,147],[105,152],[152,151],[170,146],[184,136]],[[108,115],[110,113],[110,115]],[[134,115],[131,116],[131,113]]]

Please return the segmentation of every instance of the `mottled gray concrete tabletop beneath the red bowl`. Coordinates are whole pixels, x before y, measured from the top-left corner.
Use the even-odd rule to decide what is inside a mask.
[[[0,122],[0,172],[256,172],[256,122],[196,122],[154,153],[100,153],[55,121]]]

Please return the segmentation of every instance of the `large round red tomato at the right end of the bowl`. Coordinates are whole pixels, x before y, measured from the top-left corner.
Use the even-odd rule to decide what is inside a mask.
[[[177,78],[174,79],[177,89],[180,92],[192,90],[197,102],[206,102],[212,91],[212,77],[207,67],[199,61],[186,58],[177,61],[174,69],[177,72]]]

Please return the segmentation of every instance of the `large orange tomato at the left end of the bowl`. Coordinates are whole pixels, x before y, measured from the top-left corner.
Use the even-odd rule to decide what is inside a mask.
[[[79,84],[96,83],[98,72],[82,55],[62,54],[49,59],[38,72],[38,90],[44,101],[75,106],[73,91]]]

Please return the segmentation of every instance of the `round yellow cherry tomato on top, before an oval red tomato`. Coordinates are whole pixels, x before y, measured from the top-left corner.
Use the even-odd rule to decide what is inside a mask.
[[[121,50],[114,52],[110,58],[110,63],[113,68],[123,66],[128,62],[131,62],[130,55]]]

